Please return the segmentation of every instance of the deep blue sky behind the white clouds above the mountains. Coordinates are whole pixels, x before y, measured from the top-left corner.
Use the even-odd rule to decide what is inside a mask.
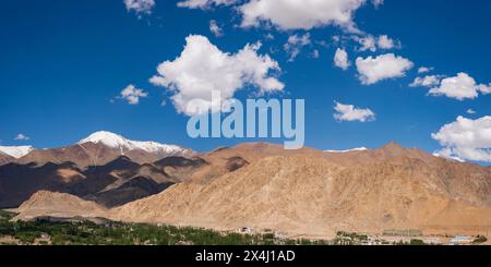
[[[442,75],[443,80],[460,72],[478,84],[491,83],[489,1],[385,0],[376,9],[368,1],[354,11],[361,34],[331,24],[308,31],[277,25],[243,28],[242,15],[236,10],[241,3],[201,10],[178,8],[176,2],[156,0],[151,14],[127,10],[122,0],[4,2],[0,9],[1,144],[57,147],[98,130],[196,150],[256,141],[188,137],[188,117],[176,111],[169,99],[172,93],[149,83],[159,63],[181,53],[189,35],[205,36],[230,53],[262,41],[258,53],[278,62],[282,71],[276,77],[285,84],[272,97],[306,99],[306,145],[319,149],[379,147],[395,141],[433,153],[442,146],[431,134],[443,125],[459,116],[477,120],[491,113],[491,95],[460,101],[409,86],[418,76]],[[209,31],[212,20],[223,36]],[[310,44],[288,61],[284,49],[288,37],[307,33]],[[274,39],[266,38],[267,34]],[[400,47],[360,51],[352,36],[369,35],[387,35],[400,41]],[[335,43],[333,36],[345,41]],[[334,64],[337,48],[348,53],[346,71]],[[319,58],[313,57],[315,50]],[[362,84],[356,58],[386,53],[404,57],[414,66],[404,76]],[[434,70],[418,74],[420,66]],[[148,96],[140,98],[139,105],[117,98],[129,84]],[[243,88],[236,97],[251,95],[253,89]],[[370,109],[375,119],[335,120],[335,101]],[[467,113],[468,109],[476,113]],[[15,141],[20,133],[29,139]]]

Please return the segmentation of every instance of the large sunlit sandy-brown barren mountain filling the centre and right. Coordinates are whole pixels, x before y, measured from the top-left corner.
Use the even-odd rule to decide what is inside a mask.
[[[343,154],[246,144],[201,159],[181,162],[189,169],[180,174],[191,179],[107,210],[105,217],[215,229],[268,228],[309,236],[330,236],[338,230],[491,230],[490,168],[394,143]],[[46,209],[49,203],[38,206],[45,208],[43,215],[59,215],[57,208]],[[20,218],[37,209],[26,203],[19,209]],[[76,209],[74,205],[70,213]]]

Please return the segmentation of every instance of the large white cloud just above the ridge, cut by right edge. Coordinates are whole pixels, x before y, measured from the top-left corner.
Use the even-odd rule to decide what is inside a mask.
[[[436,154],[447,158],[491,162],[491,117],[477,120],[458,117],[431,135],[443,147]]]

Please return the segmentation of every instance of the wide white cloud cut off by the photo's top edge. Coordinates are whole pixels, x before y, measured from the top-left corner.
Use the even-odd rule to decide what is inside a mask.
[[[358,32],[354,13],[366,0],[250,0],[239,7],[242,26],[271,23],[279,29],[311,29],[337,25]]]

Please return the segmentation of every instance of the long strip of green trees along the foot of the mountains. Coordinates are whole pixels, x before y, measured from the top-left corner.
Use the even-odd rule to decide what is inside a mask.
[[[218,232],[196,228],[172,226],[153,226],[143,223],[107,222],[96,224],[82,222],[52,222],[46,219],[35,221],[10,221],[12,214],[0,214],[0,236],[10,235],[22,244],[33,244],[44,236],[55,245],[253,245],[253,244],[326,244],[322,241],[287,240],[276,238],[274,233],[241,234]]]

